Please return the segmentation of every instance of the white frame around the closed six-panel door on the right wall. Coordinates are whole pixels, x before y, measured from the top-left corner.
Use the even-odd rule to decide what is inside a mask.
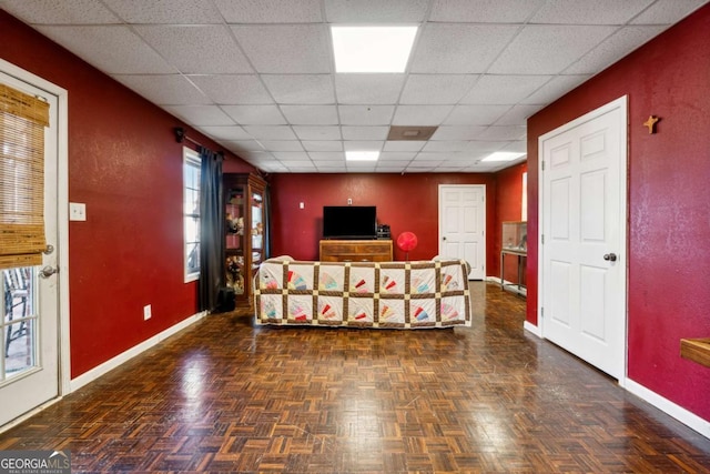
[[[623,255],[620,259],[621,262],[623,262],[625,264],[625,269],[623,269],[623,280],[625,280],[625,285],[623,285],[623,295],[622,295],[622,305],[623,305],[623,316],[625,316],[625,324],[623,324],[623,334],[622,334],[622,341],[623,341],[623,361],[622,361],[622,374],[621,376],[619,376],[619,385],[620,386],[626,386],[627,383],[627,373],[628,373],[628,316],[629,316],[629,311],[628,311],[628,292],[629,292],[629,265],[628,265],[628,259],[626,258],[628,255],[628,238],[627,238],[627,222],[628,222],[628,150],[629,150],[629,145],[628,145],[628,97],[623,95],[620,97],[619,99],[616,99],[605,105],[601,105],[600,108],[592,110],[591,112],[588,112],[575,120],[572,120],[571,122],[568,122],[548,133],[545,133],[544,135],[540,135],[538,138],[538,215],[539,215],[539,222],[538,222],[538,266],[537,266],[537,272],[538,272],[538,289],[537,289],[537,294],[538,294],[538,307],[537,307],[537,314],[538,314],[538,334],[540,335],[540,337],[545,339],[545,317],[544,317],[544,309],[542,305],[545,303],[544,297],[541,297],[541,295],[545,293],[544,292],[544,285],[545,285],[545,279],[544,279],[544,270],[545,270],[545,244],[542,243],[542,231],[545,230],[545,213],[542,212],[542,208],[544,208],[544,203],[545,203],[545,199],[544,199],[544,193],[545,193],[545,182],[544,182],[544,170],[542,167],[545,165],[544,161],[545,161],[545,155],[544,155],[544,143],[546,140],[550,139],[551,137],[558,135],[560,133],[564,133],[568,130],[571,130],[578,125],[580,125],[581,123],[588,122],[590,120],[594,120],[600,115],[604,115],[615,109],[621,109],[623,112],[623,123],[620,124],[620,130],[619,130],[619,141],[621,143],[621,148],[622,150],[620,150],[619,152],[619,182],[621,185],[621,192],[620,192],[620,198],[619,198],[619,220],[618,220],[618,225],[619,225],[619,240],[622,243],[623,246]]]

